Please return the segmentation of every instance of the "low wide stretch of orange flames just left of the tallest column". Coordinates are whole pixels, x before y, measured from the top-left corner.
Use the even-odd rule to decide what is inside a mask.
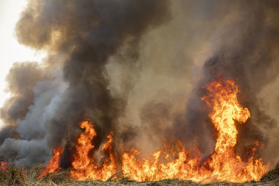
[[[122,156],[122,171],[124,176],[132,180],[163,180],[174,179],[180,180],[194,180],[199,181],[204,176],[197,171],[200,163],[200,158],[193,158],[190,151],[182,146],[180,142],[177,143],[182,149],[177,153],[178,158],[175,157],[176,151],[169,152],[169,150],[157,150],[151,155],[153,161],[146,159],[137,160],[135,156],[140,152],[136,149],[130,150],[128,153],[123,153]],[[174,155],[172,155],[174,153]],[[198,153],[198,150],[197,150]],[[160,157],[166,163],[159,163]]]

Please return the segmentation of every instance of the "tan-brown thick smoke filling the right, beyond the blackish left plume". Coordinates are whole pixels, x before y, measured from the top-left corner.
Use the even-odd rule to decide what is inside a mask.
[[[216,135],[202,86],[223,75],[240,86],[239,101],[251,112],[237,125],[237,152],[257,140],[264,160],[277,157],[278,8],[277,1],[172,2],[172,22],[149,33],[140,52],[142,79],[128,102],[128,118],[142,130],[134,144],[152,151],[146,140],[179,139],[207,157]]]

